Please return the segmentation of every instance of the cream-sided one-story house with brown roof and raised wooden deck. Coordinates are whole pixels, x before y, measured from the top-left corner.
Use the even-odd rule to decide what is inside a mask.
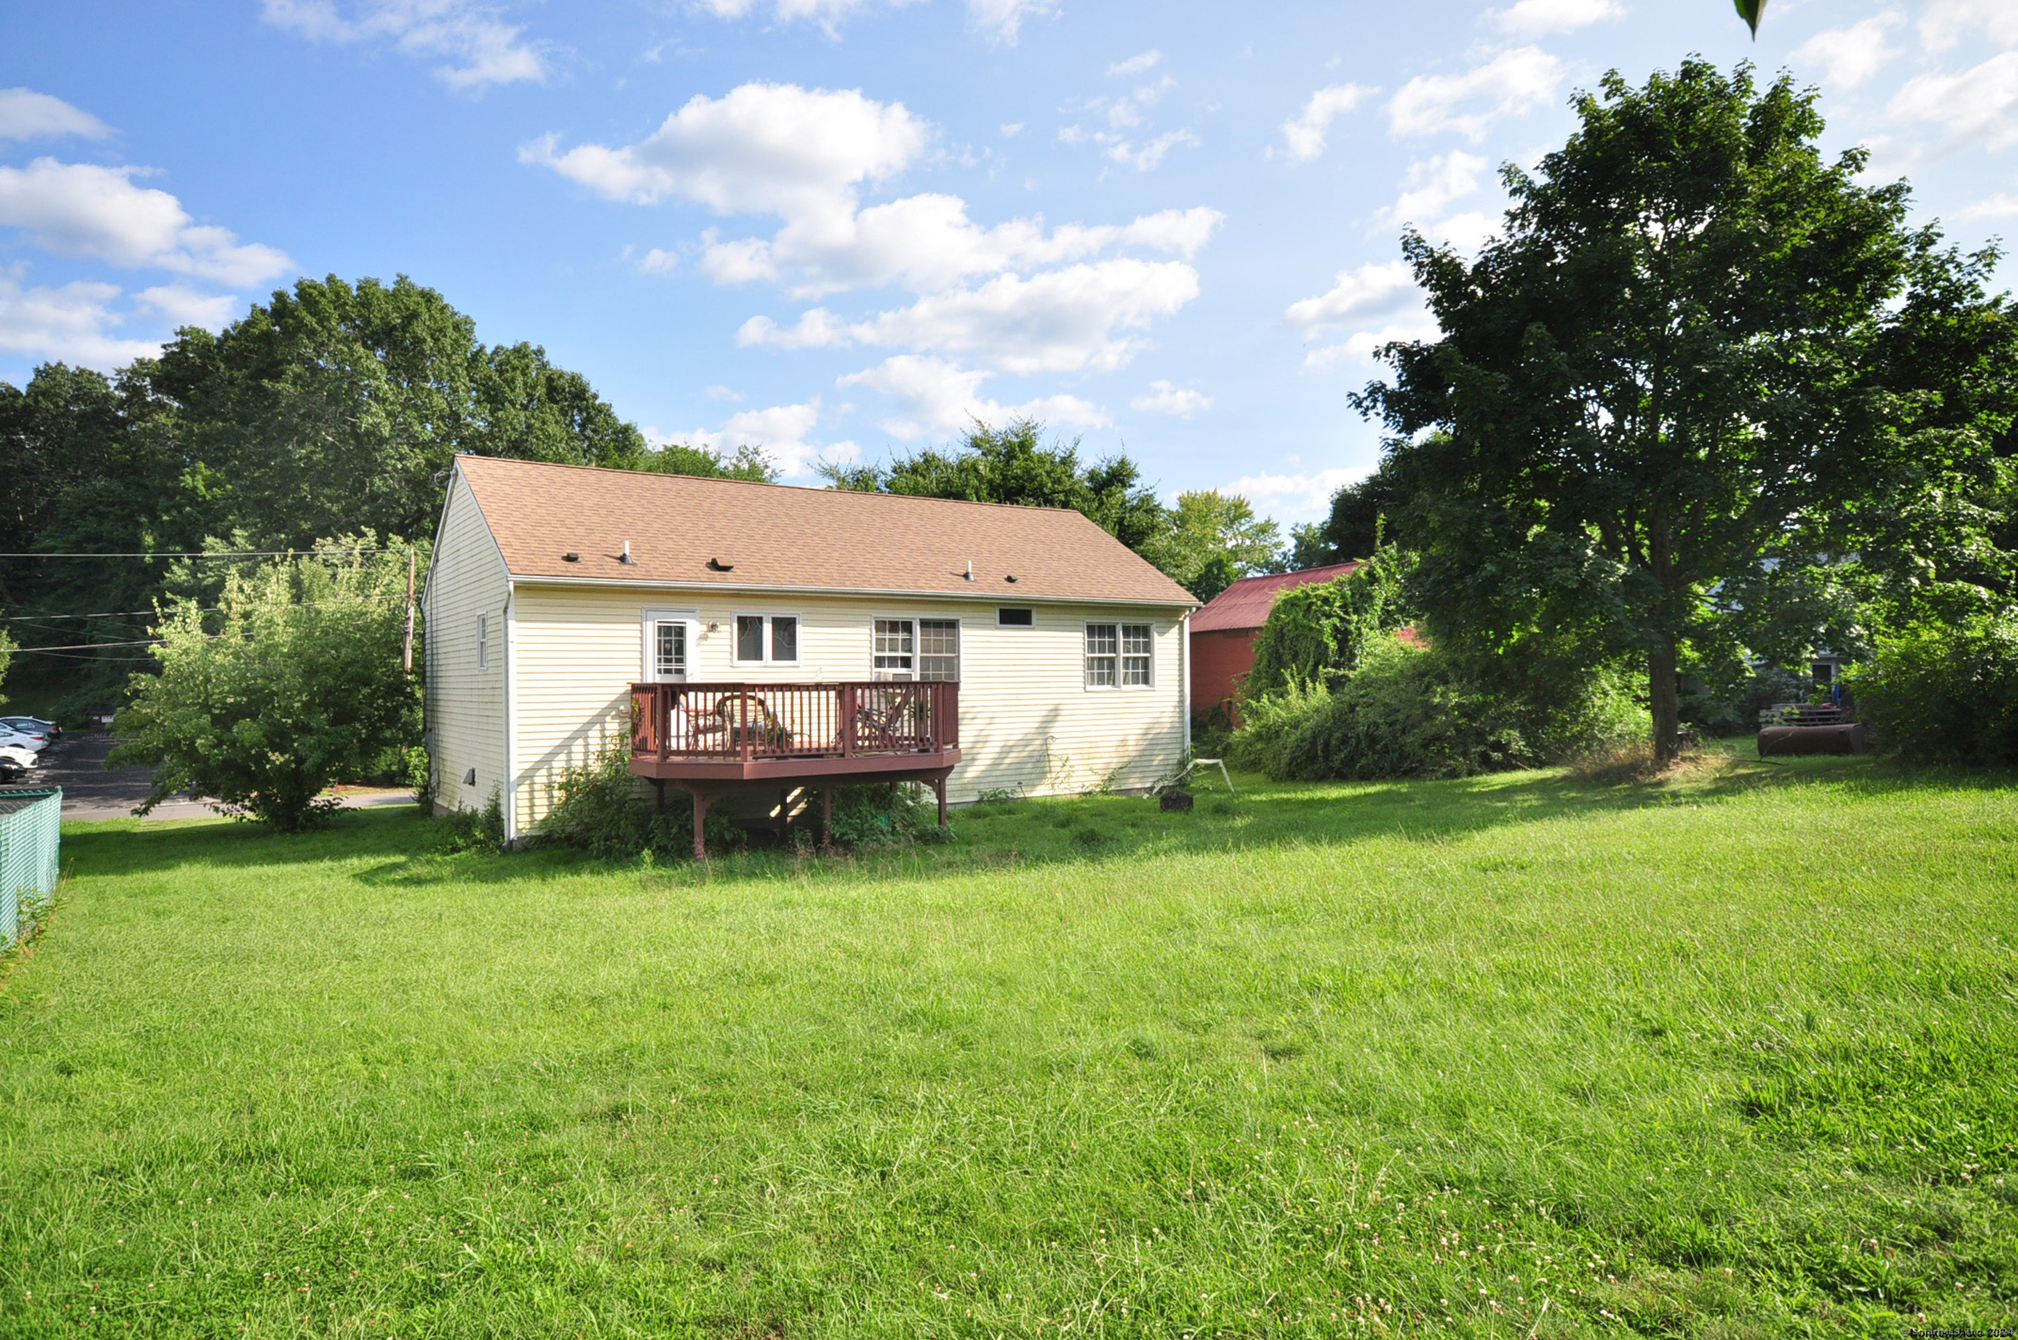
[[[436,803],[498,795],[519,837],[626,737],[696,809],[1142,787],[1189,747],[1195,607],[1072,511],[458,456],[424,595]]]

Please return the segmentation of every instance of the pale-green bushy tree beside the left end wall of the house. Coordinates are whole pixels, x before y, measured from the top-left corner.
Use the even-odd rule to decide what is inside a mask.
[[[139,674],[111,763],[155,769],[141,813],[180,791],[283,831],[327,821],[333,781],[420,739],[420,678],[402,668],[404,553],[375,537],[232,571],[222,609],[174,601],[159,674]],[[424,555],[422,555],[424,561]]]

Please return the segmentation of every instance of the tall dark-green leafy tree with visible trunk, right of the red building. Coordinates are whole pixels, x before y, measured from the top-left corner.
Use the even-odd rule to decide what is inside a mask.
[[[1612,73],[1576,111],[1536,176],[1505,170],[1475,262],[1405,238],[1443,337],[1388,345],[1358,406],[1396,434],[1439,644],[1526,672],[1639,656],[1667,759],[1683,650],[1742,642],[1725,583],[1881,535],[1893,571],[1939,569],[1957,527],[1980,539],[1949,502],[2010,424],[2012,321],[1992,256],[1907,230],[1861,149],[1824,161],[1784,77]]]

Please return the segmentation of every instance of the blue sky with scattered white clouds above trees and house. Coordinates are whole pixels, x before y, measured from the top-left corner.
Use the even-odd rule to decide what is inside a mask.
[[[1031,414],[1281,521],[1566,99],[1701,52],[1822,91],[1966,246],[2018,218],[2018,4],[180,0],[14,6],[0,379],[299,274],[410,274],[658,440],[813,462]],[[2008,272],[2008,270],[2006,270]]]

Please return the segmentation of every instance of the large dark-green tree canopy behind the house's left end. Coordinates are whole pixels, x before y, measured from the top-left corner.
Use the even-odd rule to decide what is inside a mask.
[[[145,652],[77,648],[139,644],[159,595],[224,577],[214,561],[57,555],[424,539],[454,452],[771,478],[751,448],[650,450],[581,375],[535,345],[484,345],[432,289],[305,278],[115,377],[50,363],[0,383],[0,553],[50,555],[0,559],[22,666],[109,696]]]

